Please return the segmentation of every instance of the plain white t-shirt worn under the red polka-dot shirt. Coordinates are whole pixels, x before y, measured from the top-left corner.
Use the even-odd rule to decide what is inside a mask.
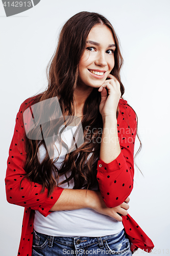
[[[77,127],[73,127],[72,131],[75,132]],[[62,140],[68,145],[73,142],[72,132],[70,129],[64,130],[62,134]],[[59,144],[56,141],[56,147],[59,148]],[[55,163],[59,169],[62,161],[65,158],[66,149],[62,147],[59,159]],[[39,161],[41,162],[45,157],[45,148],[43,145],[39,147]],[[58,152],[55,150],[54,159],[58,157]],[[68,176],[70,173],[68,173]],[[59,183],[65,180],[65,176],[59,178]],[[62,188],[73,188],[74,180],[69,181],[69,187],[67,183],[60,185]],[[96,190],[96,189],[94,189]],[[54,237],[103,237],[109,236],[120,232],[124,228],[122,222],[118,222],[114,218],[106,215],[99,214],[91,208],[83,208],[77,210],[63,210],[53,211],[47,217],[40,214],[39,211],[35,211],[34,217],[34,229],[39,233],[47,234]]]

